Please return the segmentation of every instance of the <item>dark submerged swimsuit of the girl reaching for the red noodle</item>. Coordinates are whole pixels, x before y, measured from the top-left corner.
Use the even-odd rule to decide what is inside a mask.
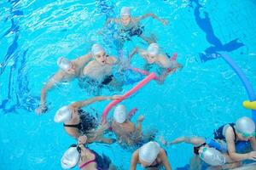
[[[88,134],[91,130],[98,126],[98,122],[95,116],[90,115],[89,112],[84,110],[79,110],[81,127],[79,129],[80,133]]]

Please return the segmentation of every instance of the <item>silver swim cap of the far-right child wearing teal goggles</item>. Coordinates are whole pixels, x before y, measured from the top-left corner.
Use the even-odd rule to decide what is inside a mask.
[[[236,121],[236,129],[240,132],[240,133],[245,133],[248,135],[254,135],[255,133],[255,124],[253,122],[252,119],[250,119],[247,116],[243,116],[241,118],[239,118]]]

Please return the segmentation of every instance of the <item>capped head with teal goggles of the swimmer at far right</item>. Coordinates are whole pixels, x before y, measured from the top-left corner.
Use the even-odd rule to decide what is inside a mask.
[[[255,124],[252,119],[243,116],[236,121],[236,134],[239,140],[247,141],[255,136]]]

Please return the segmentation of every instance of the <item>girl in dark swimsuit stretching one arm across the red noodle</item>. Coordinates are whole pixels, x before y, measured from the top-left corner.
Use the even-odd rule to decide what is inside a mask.
[[[65,131],[75,139],[84,141],[84,135],[86,135],[88,137],[88,139],[86,138],[87,143],[102,142],[112,144],[113,139],[104,138],[102,135],[108,127],[98,126],[96,118],[81,109],[84,106],[106,99],[120,99],[120,97],[116,95],[109,97],[97,96],[75,102],[72,105],[63,106],[56,112],[55,122],[63,122]]]

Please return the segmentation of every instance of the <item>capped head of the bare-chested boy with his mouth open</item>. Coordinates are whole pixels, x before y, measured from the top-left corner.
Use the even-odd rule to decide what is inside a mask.
[[[94,57],[94,59],[96,59],[96,62],[98,62],[99,64],[105,65],[107,63],[107,54],[101,45],[97,43],[94,44],[91,47],[91,54]]]

